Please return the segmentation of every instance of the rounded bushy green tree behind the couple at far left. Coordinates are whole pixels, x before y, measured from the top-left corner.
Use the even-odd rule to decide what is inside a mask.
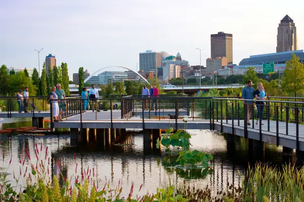
[[[10,95],[16,96],[16,92],[20,92],[25,87],[28,88],[29,95],[36,95],[37,87],[33,85],[32,80],[25,74],[24,71],[19,71],[10,79]]]

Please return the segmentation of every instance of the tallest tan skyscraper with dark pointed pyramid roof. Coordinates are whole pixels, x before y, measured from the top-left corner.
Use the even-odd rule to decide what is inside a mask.
[[[279,24],[277,35],[277,53],[286,51],[296,51],[297,35],[296,26],[293,20],[286,15]]]

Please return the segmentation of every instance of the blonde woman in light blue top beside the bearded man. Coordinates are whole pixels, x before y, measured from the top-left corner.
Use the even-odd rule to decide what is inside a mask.
[[[265,102],[263,102],[263,100],[266,99],[267,94],[266,94],[266,91],[264,90],[264,86],[262,83],[257,84],[257,90],[254,91],[254,96],[255,96],[255,99],[258,100],[255,103],[256,108],[257,108],[257,116],[256,116],[255,124],[256,125],[258,124],[259,118],[261,117],[261,125],[264,125],[262,120],[263,120],[263,111],[264,111],[264,107],[265,107]],[[261,114],[260,114],[260,112],[261,112]]]

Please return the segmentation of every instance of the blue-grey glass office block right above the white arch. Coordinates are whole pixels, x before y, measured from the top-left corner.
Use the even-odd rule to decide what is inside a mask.
[[[145,72],[156,71],[157,67],[162,66],[161,53],[154,51],[146,51],[145,53],[139,53],[139,70]]]

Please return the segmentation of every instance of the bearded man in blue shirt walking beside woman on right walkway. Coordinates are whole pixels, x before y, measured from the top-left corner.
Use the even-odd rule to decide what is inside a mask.
[[[250,125],[250,116],[253,109],[253,92],[254,88],[252,87],[252,81],[248,80],[247,85],[242,90],[242,98],[249,99],[243,100],[244,107],[247,105],[247,125]]]

